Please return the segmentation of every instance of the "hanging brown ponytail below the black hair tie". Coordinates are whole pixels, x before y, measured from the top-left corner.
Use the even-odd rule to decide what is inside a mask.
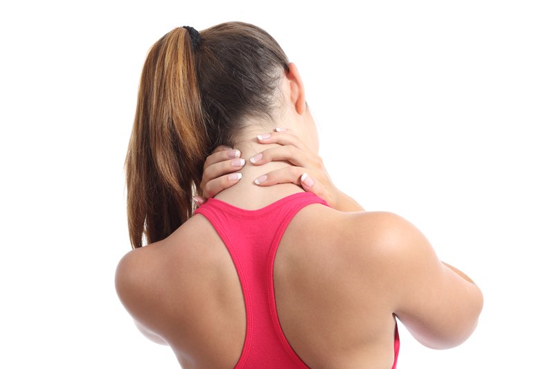
[[[159,39],[146,58],[125,159],[132,247],[168,237],[193,215],[208,134],[193,44],[186,28]]]

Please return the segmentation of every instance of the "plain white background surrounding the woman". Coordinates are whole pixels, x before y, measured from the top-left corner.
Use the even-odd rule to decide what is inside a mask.
[[[483,290],[452,350],[398,368],[546,368],[554,246],[549,1],[20,1],[0,8],[1,368],[177,368],[114,291],[148,48],[247,21],[296,62],[335,183]],[[11,3],[11,2],[10,2]]]

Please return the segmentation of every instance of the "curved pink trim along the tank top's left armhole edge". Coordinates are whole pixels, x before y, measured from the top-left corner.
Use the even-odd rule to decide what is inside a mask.
[[[200,208],[198,208],[197,210],[200,210]],[[242,269],[242,263],[240,262],[240,259],[238,258],[238,254],[235,251],[233,242],[231,242],[231,238],[229,237],[229,235],[227,235],[227,232],[224,226],[222,226],[219,219],[217,219],[217,217],[214,217],[211,214],[210,208],[202,209],[199,211],[199,213],[204,215],[206,219],[208,219],[208,221],[213,222],[212,224],[215,228],[216,233],[222,234],[224,238],[223,243],[225,245],[225,248],[229,252],[231,256],[231,261],[233,262],[239,276],[240,286],[241,286],[243,299],[244,299],[244,310],[246,310],[247,327],[246,327],[246,334],[244,336],[244,346],[242,348],[242,352],[240,353],[239,360],[235,364],[233,369],[241,369],[242,367],[244,367],[244,364],[247,362],[249,352],[250,352],[250,347],[251,347],[252,335],[253,335],[252,304],[251,304],[250,290],[248,287],[247,278],[244,275],[244,270]],[[217,227],[215,227],[215,225],[217,225]]]

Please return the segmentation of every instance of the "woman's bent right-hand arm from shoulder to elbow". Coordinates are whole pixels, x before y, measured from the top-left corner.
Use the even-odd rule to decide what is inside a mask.
[[[397,215],[379,214],[372,243],[379,249],[393,313],[429,348],[460,345],[476,327],[481,290],[440,262],[418,228]],[[366,222],[375,222],[375,216]]]

